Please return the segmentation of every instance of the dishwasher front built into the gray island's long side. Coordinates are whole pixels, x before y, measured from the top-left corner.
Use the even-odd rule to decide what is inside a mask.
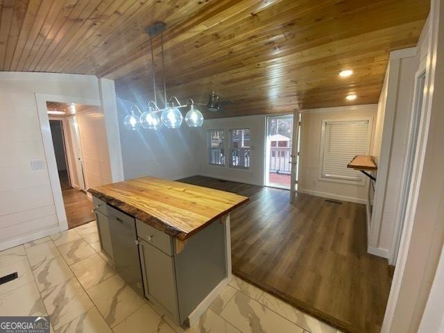
[[[143,297],[144,287],[135,219],[108,205],[108,221],[116,271]]]

